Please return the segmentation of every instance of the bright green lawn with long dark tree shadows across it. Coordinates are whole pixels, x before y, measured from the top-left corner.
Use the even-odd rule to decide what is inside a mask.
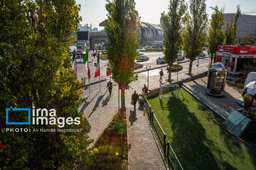
[[[158,97],[149,103],[183,169],[256,169],[255,152],[215,125],[212,119],[223,120],[183,89],[162,107]]]

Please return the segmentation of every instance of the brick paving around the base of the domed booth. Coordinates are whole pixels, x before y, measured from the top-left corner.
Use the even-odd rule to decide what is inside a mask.
[[[220,113],[220,116],[225,119],[228,118],[232,110],[241,108],[236,103],[236,100],[242,97],[242,89],[231,86],[230,84],[225,84],[225,91],[223,91],[224,97],[215,98],[206,94],[206,92],[209,91],[209,89],[207,89],[207,80],[208,77],[203,77],[201,79],[188,81],[184,83],[184,85],[193,91],[194,94],[200,96],[201,101],[210,103],[210,105],[215,107],[215,109],[218,110],[217,113]]]

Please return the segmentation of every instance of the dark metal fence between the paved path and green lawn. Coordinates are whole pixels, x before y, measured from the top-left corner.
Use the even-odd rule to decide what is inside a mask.
[[[174,149],[172,149],[170,142],[166,142],[166,134],[164,130],[161,128],[159,121],[154,115],[154,111],[152,110],[149,101],[147,101],[146,97],[144,97],[144,112],[149,119],[149,123],[154,132],[154,137],[156,141],[159,143],[159,149],[161,149],[162,154],[164,155],[164,161],[168,164],[169,169],[178,169],[183,170],[181,163],[178,161]]]

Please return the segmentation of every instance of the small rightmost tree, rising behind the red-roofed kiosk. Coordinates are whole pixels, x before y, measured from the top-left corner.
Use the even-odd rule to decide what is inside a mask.
[[[234,16],[234,23],[226,23],[225,45],[235,45],[238,37],[238,18],[241,16],[240,6],[237,6],[237,13]]]

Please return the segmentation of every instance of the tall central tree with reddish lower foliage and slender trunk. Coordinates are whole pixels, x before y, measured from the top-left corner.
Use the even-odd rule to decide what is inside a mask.
[[[107,0],[108,20],[105,23],[109,46],[112,78],[121,89],[121,111],[125,111],[124,87],[137,77],[134,76],[134,60],[137,57],[139,14],[134,0]]]

